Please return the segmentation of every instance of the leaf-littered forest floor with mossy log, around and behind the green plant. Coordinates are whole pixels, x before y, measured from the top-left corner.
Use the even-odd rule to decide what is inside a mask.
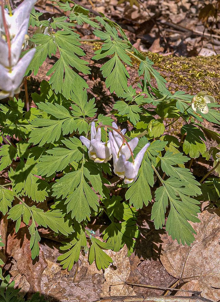
[[[118,4],[117,0],[75,2],[94,12],[104,13],[118,22],[136,48],[147,52],[155,62],[155,68],[167,79],[167,87],[171,91],[184,90],[196,94],[200,90],[207,90],[219,98],[220,22],[215,22],[212,17],[203,20],[204,16],[201,13],[204,4],[207,2],[208,5],[209,1],[146,0],[137,2],[130,0],[127,2],[122,0],[121,4]],[[59,10],[54,10],[49,1],[38,1],[36,8],[43,12],[44,18],[59,15]],[[87,25],[77,26],[77,30],[85,39],[94,37],[91,28]],[[91,59],[90,54],[98,47],[98,43],[82,45],[86,53],[84,59],[92,68],[91,75],[84,78],[89,85],[89,98],[96,99],[97,113],[107,114],[112,109],[115,100],[105,88],[99,64]],[[45,75],[54,60],[53,57],[48,58],[38,75],[29,77],[29,96],[33,92],[40,93],[40,82],[43,79],[49,80],[49,77]],[[133,85],[138,78],[137,65],[128,68],[129,85]],[[129,124],[126,126],[131,127]],[[211,123],[206,124],[207,126],[215,131],[220,130],[219,127],[213,128]],[[170,128],[167,134],[175,133],[176,127],[181,127],[181,120],[180,124],[175,124],[175,129]],[[207,146],[211,143],[208,141]],[[201,156],[190,162],[189,168],[194,175],[201,178],[212,169],[212,164],[212,160],[206,162]],[[214,252],[216,259],[219,259],[220,248],[217,244],[216,231],[220,223],[219,210],[209,210],[206,216],[202,212],[199,216],[202,224],[200,224],[195,243],[191,247],[181,246],[180,248],[167,235],[165,229],[155,230],[150,219],[151,206],[149,204],[148,207],[139,210],[138,225],[141,236],[137,239],[135,252],[130,258],[126,256],[126,246],[118,253],[109,252],[114,263],[105,272],[98,271],[94,263],[89,265],[86,254],[80,256],[78,263],[70,272],[62,270],[57,257],[61,255],[59,246],[63,239],[59,236],[53,238],[53,234],[44,228],[39,230],[42,238],[39,261],[32,263],[27,226],[24,225],[15,234],[12,224],[8,229],[7,243],[7,253],[11,255],[11,259],[5,269],[10,273],[11,280],[15,281],[16,286],[21,288],[22,293],[28,293],[28,296],[31,292],[42,291],[51,302],[91,302],[109,295],[160,295],[163,293],[161,290],[125,285],[125,281],[169,287],[178,279],[182,280],[182,289],[206,291],[210,299],[218,301],[220,290],[213,285],[217,281],[211,271],[219,269],[219,266],[213,267],[213,264],[209,263],[209,255]],[[206,204],[202,204],[202,208],[205,206]],[[102,220],[92,221],[88,228],[94,230],[96,236],[100,236],[103,223]],[[193,227],[198,228],[196,224]],[[205,249],[205,259],[200,257],[202,249],[203,251]],[[184,256],[186,254],[189,255],[188,258]],[[196,265],[193,262],[196,262]],[[194,271],[192,271],[192,263]],[[206,278],[200,274],[204,269],[207,270]],[[196,281],[189,281],[190,276],[195,275],[195,270],[198,278]],[[183,296],[184,293],[176,295]]]

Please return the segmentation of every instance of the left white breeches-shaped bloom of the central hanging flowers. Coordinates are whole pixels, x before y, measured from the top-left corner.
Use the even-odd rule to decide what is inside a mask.
[[[91,123],[91,140],[84,136],[80,140],[87,147],[89,158],[94,162],[107,162],[112,158],[110,143],[101,142],[101,128],[96,132],[94,122]]]

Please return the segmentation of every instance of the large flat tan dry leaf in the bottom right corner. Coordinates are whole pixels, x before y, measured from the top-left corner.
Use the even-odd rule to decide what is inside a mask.
[[[163,245],[161,262],[170,275],[181,280],[181,289],[202,291],[202,297],[218,301],[220,210],[205,210],[199,214],[199,219],[201,223],[191,223],[197,232],[191,246],[179,245],[176,241]]]

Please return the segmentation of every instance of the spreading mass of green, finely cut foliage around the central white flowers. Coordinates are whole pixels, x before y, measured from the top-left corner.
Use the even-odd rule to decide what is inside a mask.
[[[58,260],[68,270],[82,250],[88,252],[89,263],[95,261],[98,269],[112,262],[105,253],[107,249],[117,252],[126,244],[131,255],[139,237],[137,210],[149,203],[153,204],[155,228],[162,228],[167,217],[168,234],[178,243],[190,245],[195,233],[190,222],[199,222],[201,190],[185,165],[190,158],[200,154],[208,157],[208,153],[218,162],[215,154],[219,145],[217,151],[206,150],[205,141],[219,144],[220,136],[201,122],[206,119],[220,124],[220,113],[215,109],[219,105],[207,103],[206,114],[196,111],[195,106],[193,110],[193,96],[168,91],[153,62],[132,46],[118,24],[102,15],[94,16],[72,1],[54,4],[69,11],[69,18],[39,20],[42,13],[33,9],[29,20],[41,32],[30,38],[36,51],[26,75],[37,75],[46,58],[56,56],[56,63],[47,72],[49,82],[42,81],[40,94],[32,94],[35,105],[29,111],[21,99],[11,98],[0,105],[0,168],[10,179],[0,185],[0,211],[15,222],[16,232],[21,221],[29,227],[33,259],[39,255],[38,226],[51,229],[55,236],[63,234],[66,240],[60,249],[65,252]],[[84,78],[91,73],[91,66],[84,60],[83,38],[75,31],[76,24],[84,23],[93,27],[100,39],[100,49],[92,60],[102,64],[105,85],[116,95],[111,117],[108,113],[98,115],[95,98],[88,99]],[[140,62],[137,88],[128,86],[126,66],[132,65],[132,58]],[[157,88],[152,86],[152,78]],[[196,101],[200,108],[200,99]],[[124,136],[125,131],[120,132],[112,124],[113,115],[118,125],[129,120],[132,130]],[[164,135],[167,120],[180,117],[183,126],[177,135]],[[136,148],[131,152],[128,146],[134,137]],[[92,140],[109,152],[108,158],[99,156],[101,149],[94,148]],[[109,181],[111,174],[118,175],[114,184]],[[123,183],[120,178],[124,177]],[[217,194],[214,181],[206,188]],[[122,192],[121,197],[116,196],[118,192]],[[44,210],[40,206],[43,202]],[[100,238],[88,223],[101,216],[105,229]],[[6,285],[6,292],[0,288],[4,301],[8,301],[10,286],[13,284]]]

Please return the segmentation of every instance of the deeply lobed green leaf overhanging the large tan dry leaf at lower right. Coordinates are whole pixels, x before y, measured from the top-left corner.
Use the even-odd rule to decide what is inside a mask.
[[[181,241],[183,245],[185,243],[190,245],[195,239],[193,236],[195,231],[187,220],[200,222],[197,218],[197,213],[200,212],[200,208],[197,206],[199,202],[188,195],[195,195],[195,192],[177,178],[173,176],[168,178],[163,182],[163,186],[155,191],[155,203],[151,214],[155,228],[161,228],[165,221],[169,201],[171,210],[167,218],[166,231],[172,239],[177,239],[178,243]]]

